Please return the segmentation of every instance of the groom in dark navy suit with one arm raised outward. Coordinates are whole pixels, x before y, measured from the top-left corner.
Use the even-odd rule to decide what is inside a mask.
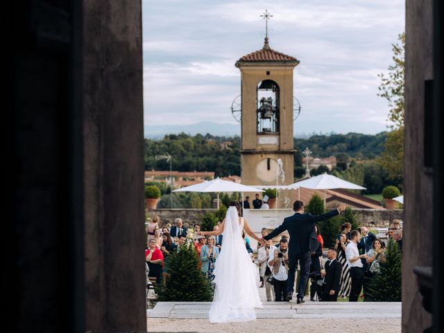
[[[268,239],[278,236],[278,234],[285,230],[288,230],[289,232],[289,278],[287,282],[287,300],[293,298],[294,276],[299,262],[300,280],[297,303],[300,304],[304,302],[304,294],[305,289],[307,288],[311,262],[310,239],[317,239],[316,232],[314,231],[314,224],[339,215],[343,210],[345,210],[345,205],[339,205],[338,208],[331,212],[313,216],[311,214],[304,214],[304,203],[300,200],[296,200],[293,203],[293,211],[295,214],[286,217],[284,223],[262,238],[264,241],[268,241]]]

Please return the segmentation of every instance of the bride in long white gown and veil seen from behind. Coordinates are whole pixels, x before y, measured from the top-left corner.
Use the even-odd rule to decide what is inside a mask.
[[[257,292],[257,268],[246,250],[242,230],[253,239],[262,240],[253,233],[240,212],[239,202],[232,201],[218,231],[200,232],[208,236],[223,232],[221,254],[214,268],[216,289],[210,309],[211,323],[254,321],[255,307],[262,308]]]

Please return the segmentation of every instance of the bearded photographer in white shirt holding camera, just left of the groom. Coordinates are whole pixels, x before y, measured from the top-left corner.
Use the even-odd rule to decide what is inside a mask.
[[[289,278],[289,242],[282,238],[279,247],[272,246],[268,256],[268,267],[271,269],[273,287],[275,289],[275,301],[286,300],[287,280]]]

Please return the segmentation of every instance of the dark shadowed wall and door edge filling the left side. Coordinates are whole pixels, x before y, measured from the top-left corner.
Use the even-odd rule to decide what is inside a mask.
[[[142,3],[11,6],[3,325],[146,332]]]

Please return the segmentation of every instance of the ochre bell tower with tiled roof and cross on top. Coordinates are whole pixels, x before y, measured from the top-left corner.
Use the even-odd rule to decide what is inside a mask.
[[[276,185],[278,160],[285,175],[282,185],[293,182],[293,69],[298,64],[296,58],[271,49],[268,31],[262,49],[236,62],[241,71],[238,118],[245,185]]]

